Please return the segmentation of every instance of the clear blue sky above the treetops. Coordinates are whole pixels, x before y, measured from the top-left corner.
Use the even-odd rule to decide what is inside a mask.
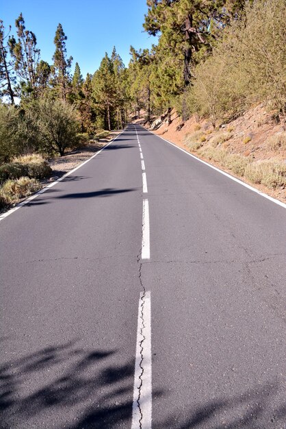
[[[36,34],[41,58],[51,64],[55,45],[55,29],[61,23],[68,40],[68,56],[79,63],[81,73],[94,73],[101,59],[112,48],[129,63],[129,47],[150,48],[157,39],[143,32],[146,0],[0,0],[0,19],[5,30],[12,25],[16,36],[15,19],[23,13],[26,29]]]

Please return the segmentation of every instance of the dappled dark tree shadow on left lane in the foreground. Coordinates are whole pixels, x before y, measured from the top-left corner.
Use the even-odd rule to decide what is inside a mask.
[[[117,364],[118,354],[83,350],[73,341],[1,366],[1,428],[42,421],[56,421],[57,428],[114,428],[131,421],[134,362]]]

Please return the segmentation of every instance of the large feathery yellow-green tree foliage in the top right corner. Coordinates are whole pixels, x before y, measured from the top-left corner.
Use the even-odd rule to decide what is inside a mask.
[[[212,55],[196,66],[192,112],[210,117],[213,126],[260,101],[286,112],[285,14],[283,0],[246,4],[244,17],[231,21]]]

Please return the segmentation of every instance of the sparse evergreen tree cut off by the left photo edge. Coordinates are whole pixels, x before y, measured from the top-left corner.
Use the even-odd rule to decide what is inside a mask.
[[[10,27],[11,29],[11,27]],[[11,103],[14,104],[14,91],[12,86],[15,84],[13,75],[13,64],[8,58],[8,45],[5,45],[5,28],[3,21],[0,20],[0,95],[8,95]]]

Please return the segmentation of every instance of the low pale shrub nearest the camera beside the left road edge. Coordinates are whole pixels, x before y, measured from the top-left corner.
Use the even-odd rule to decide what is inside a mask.
[[[4,201],[4,204],[14,204],[20,199],[39,191],[41,187],[38,180],[30,179],[29,177],[7,180],[0,188],[0,197]]]

